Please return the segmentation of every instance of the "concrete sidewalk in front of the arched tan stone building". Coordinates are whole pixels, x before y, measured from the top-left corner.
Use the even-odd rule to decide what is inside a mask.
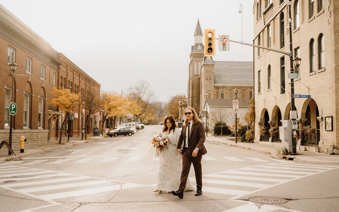
[[[278,150],[281,151],[282,147],[268,145],[268,144],[261,144],[261,143],[245,143],[245,142],[238,142],[228,140],[229,136],[218,136],[215,137],[213,134],[208,134],[206,140],[215,141],[217,143],[222,143],[225,145],[231,145],[234,147],[239,147],[251,151],[260,152],[262,154],[269,155],[271,157],[282,159],[283,155],[277,154]],[[338,163],[339,164],[339,155],[328,155],[325,153],[318,153],[318,152],[308,152],[297,150],[298,155],[287,155],[288,159],[293,159],[293,161],[298,162],[321,162],[321,163]]]

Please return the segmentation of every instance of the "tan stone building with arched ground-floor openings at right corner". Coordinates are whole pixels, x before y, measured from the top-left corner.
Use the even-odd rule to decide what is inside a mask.
[[[254,44],[290,52],[290,32],[286,27],[289,3],[293,58],[301,58],[300,66],[295,67],[299,76],[294,79],[294,94],[311,96],[294,98],[297,149],[339,153],[339,78],[335,59],[339,47],[339,11],[335,8],[339,2],[255,0]],[[278,134],[260,136],[260,129],[281,126],[281,120],[291,118],[290,68],[289,56],[254,47],[255,142],[281,145]],[[313,133],[305,131],[304,126],[313,128]]]

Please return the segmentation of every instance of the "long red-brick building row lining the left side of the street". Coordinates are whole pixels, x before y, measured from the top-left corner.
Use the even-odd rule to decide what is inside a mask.
[[[83,95],[88,88],[100,91],[99,83],[0,5],[0,140],[8,141],[9,137],[11,62],[18,64],[15,74],[22,75],[15,76],[14,82],[14,102],[18,111],[13,119],[13,146],[19,145],[20,135],[31,143],[58,137],[63,115],[49,104],[53,98],[52,88],[65,89],[70,86],[73,92],[82,92]],[[79,102],[72,116],[74,120],[69,122],[71,136],[79,135],[79,130],[84,126],[83,117],[88,115],[88,111],[84,110],[85,103]],[[92,116],[89,129],[95,123],[95,115]],[[99,122],[96,124],[99,127]]]

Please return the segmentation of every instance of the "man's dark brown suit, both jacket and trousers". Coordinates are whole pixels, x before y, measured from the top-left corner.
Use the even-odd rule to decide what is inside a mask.
[[[195,178],[197,182],[197,189],[202,188],[202,171],[201,171],[201,158],[202,155],[206,154],[207,151],[204,146],[205,142],[205,132],[204,127],[201,122],[199,123],[193,123],[192,126],[190,126],[190,141],[188,144],[188,147],[185,148],[185,142],[186,142],[186,126],[182,127],[182,131],[179,137],[179,141],[177,144],[177,148],[181,149],[182,143],[183,143],[183,149],[182,149],[182,172],[181,172],[181,178],[180,178],[180,187],[179,190],[182,192],[184,191],[186,187],[186,182],[188,178],[188,174],[190,173],[191,169],[191,163],[194,167],[195,172]],[[192,156],[192,153],[195,148],[198,148],[198,154],[196,157]]]

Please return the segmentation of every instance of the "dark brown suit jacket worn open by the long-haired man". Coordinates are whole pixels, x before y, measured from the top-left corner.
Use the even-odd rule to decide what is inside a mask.
[[[183,126],[182,130],[181,130],[181,134],[178,140],[178,144],[177,144],[177,148],[181,149],[182,147],[182,143],[183,146],[185,146],[185,142],[186,142],[186,127],[187,126]],[[205,131],[204,131],[204,127],[203,124],[201,122],[199,123],[193,123],[190,129],[191,133],[190,133],[190,150],[191,153],[194,151],[195,148],[198,148],[198,154],[197,156],[201,156],[207,153],[205,146],[204,146],[204,142],[205,142]],[[182,154],[183,152],[181,152]]]

